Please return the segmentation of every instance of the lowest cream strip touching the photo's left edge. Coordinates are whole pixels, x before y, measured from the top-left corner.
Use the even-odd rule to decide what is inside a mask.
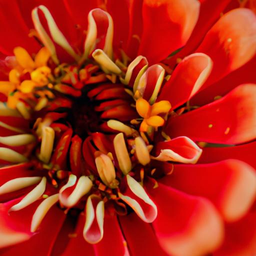
[[[41,177],[21,177],[11,179],[0,186],[0,194],[5,194],[19,190],[21,188],[31,186],[38,183]]]

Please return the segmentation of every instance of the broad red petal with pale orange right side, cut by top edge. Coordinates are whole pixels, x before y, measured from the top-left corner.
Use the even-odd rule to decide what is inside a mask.
[[[138,55],[154,63],[183,46],[195,26],[199,6],[196,0],[145,0]]]

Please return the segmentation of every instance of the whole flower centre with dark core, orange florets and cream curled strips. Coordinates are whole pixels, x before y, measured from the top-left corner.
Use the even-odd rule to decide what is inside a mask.
[[[40,23],[38,8],[52,39]],[[9,81],[2,82],[5,86],[0,89],[6,101],[0,110],[17,118],[14,126],[0,123],[14,131],[0,140],[5,145],[1,159],[30,161],[36,173],[12,179],[0,190],[15,191],[39,182],[10,211],[44,198],[33,215],[31,231],[35,231],[57,201],[66,212],[84,210],[83,237],[91,243],[102,238],[104,207],[116,214],[132,209],[152,222],[157,208],[145,191],[146,184],[157,187],[156,179],[171,173],[171,164],[166,168],[162,162],[196,162],[201,153],[188,138],[170,140],[162,132],[171,105],[156,98],[169,75],[159,64],[148,67],[143,56],[130,61],[121,51],[120,58],[113,57],[108,13],[90,11],[84,52],[79,56],[46,7],[38,8],[32,17],[45,46],[34,57],[16,47]],[[103,49],[96,47],[102,37],[97,38],[97,15],[108,24]],[[59,61],[53,42],[74,58],[74,64]],[[180,153],[180,144],[188,148],[186,155]]]

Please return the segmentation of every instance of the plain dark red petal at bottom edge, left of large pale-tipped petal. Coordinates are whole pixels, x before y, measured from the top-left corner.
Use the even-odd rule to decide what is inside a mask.
[[[153,228],[136,214],[119,217],[131,255],[167,255],[159,245]]]

